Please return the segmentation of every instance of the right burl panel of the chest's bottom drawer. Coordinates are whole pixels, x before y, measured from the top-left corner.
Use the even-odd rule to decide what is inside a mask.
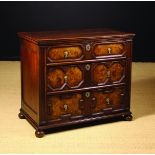
[[[110,89],[99,89],[93,92],[94,102],[92,113],[104,112],[106,110],[119,109],[125,100],[125,88],[114,87]]]

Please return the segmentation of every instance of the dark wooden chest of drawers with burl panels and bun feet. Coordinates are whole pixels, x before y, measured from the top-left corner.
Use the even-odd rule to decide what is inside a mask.
[[[46,129],[110,117],[131,120],[133,33],[109,29],[19,32],[21,109]]]

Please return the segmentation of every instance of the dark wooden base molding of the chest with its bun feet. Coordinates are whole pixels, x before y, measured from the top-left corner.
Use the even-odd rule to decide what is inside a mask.
[[[38,138],[42,138],[45,135],[45,131],[49,129],[55,129],[55,128],[61,128],[61,127],[69,127],[69,126],[75,126],[79,124],[85,124],[85,123],[90,123],[90,122],[95,122],[97,120],[108,120],[110,118],[122,118],[122,120],[126,121],[131,121],[132,120],[132,113],[130,111],[124,111],[124,112],[119,112],[115,114],[107,114],[103,116],[90,116],[90,117],[85,117],[82,119],[77,119],[77,120],[72,120],[72,121],[66,121],[66,122],[59,122],[59,123],[46,123],[44,125],[38,125],[36,122],[22,109],[20,109],[19,115],[22,115],[26,120],[36,129],[35,135]],[[19,117],[20,118],[20,117]],[[104,124],[104,122],[103,122]]]

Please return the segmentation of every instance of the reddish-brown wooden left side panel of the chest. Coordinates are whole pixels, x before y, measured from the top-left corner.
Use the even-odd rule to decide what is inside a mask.
[[[22,109],[38,122],[39,52],[30,42],[21,42]]]

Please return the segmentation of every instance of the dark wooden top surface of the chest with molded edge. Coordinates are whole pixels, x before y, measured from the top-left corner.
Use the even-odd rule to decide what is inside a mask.
[[[43,32],[18,32],[20,38],[35,43],[54,40],[72,39],[104,39],[104,38],[132,38],[135,34],[112,29],[79,29],[79,30],[57,30]]]

